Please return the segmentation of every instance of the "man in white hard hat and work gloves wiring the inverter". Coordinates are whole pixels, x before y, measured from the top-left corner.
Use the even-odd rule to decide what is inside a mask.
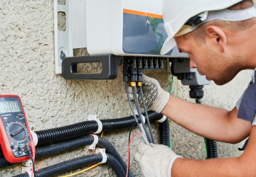
[[[252,0],[165,0],[163,16],[169,37],[162,55],[177,45],[180,52],[188,53],[191,68],[218,85],[228,83],[243,69],[255,69],[256,9]],[[233,144],[250,135],[241,156],[222,159],[184,159],[164,145],[140,143],[136,159],[144,176],[256,176],[255,73],[231,111],[183,101],[147,76],[143,84],[149,109],[197,135]]]

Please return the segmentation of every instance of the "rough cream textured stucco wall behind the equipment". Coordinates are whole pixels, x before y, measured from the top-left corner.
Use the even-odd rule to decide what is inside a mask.
[[[0,95],[21,96],[28,124],[35,127],[35,130],[81,122],[92,114],[100,115],[101,119],[129,115],[129,105],[122,99],[122,67],[118,67],[117,79],[111,81],[66,81],[61,75],[55,74],[52,0],[0,0],[0,24]],[[75,55],[87,55],[87,52],[85,49],[75,50]],[[90,66],[93,67],[95,66]],[[216,86],[214,83],[205,86],[203,102],[231,110],[247,87],[251,72],[241,72],[225,86]],[[145,74],[158,79],[161,86],[169,91],[171,74],[166,69],[148,70]],[[171,94],[176,95],[176,89],[175,79]],[[188,98],[188,90],[188,86],[182,86],[178,82],[179,97],[194,102]],[[159,142],[158,127],[155,123],[152,123],[152,127],[154,137]],[[104,135],[117,148],[124,161],[127,161],[128,133],[129,130],[125,130],[107,132]],[[188,132],[176,123],[171,125],[170,135],[172,147],[177,154],[192,159],[206,158],[202,137]],[[142,139],[135,137],[131,147],[130,169],[136,176],[142,176],[139,164],[134,159],[139,141]],[[241,146],[218,143],[219,154],[221,157],[239,156],[238,147]],[[85,148],[78,148],[38,159],[36,169],[90,153]],[[19,173],[21,164],[0,169],[0,176]],[[101,165],[80,176],[114,176],[114,171],[110,166]]]

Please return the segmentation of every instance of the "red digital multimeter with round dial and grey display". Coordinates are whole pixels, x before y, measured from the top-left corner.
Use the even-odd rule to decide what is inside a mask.
[[[31,141],[21,98],[0,96],[0,144],[6,160],[17,163],[30,159],[24,147]]]

